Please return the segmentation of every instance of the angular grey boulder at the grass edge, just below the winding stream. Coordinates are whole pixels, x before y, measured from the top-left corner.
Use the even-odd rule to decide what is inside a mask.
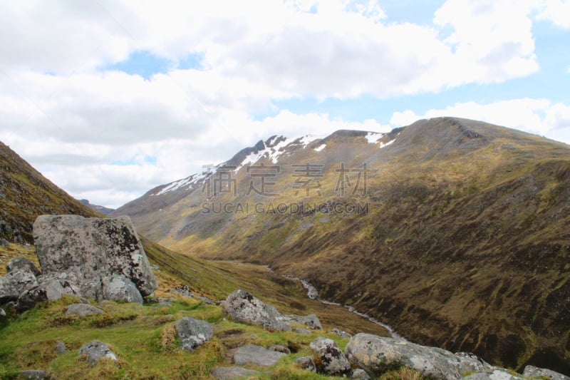
[[[244,290],[229,294],[222,310],[237,322],[261,324],[269,330],[291,330],[275,307],[264,304]]]

